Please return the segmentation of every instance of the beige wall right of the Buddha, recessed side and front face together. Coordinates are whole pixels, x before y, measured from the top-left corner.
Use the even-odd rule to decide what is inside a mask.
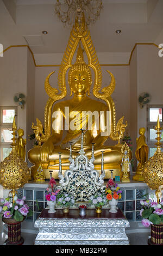
[[[147,129],[147,106],[140,108],[139,95],[151,95],[150,105],[163,105],[162,68],[163,58],[158,56],[159,48],[153,45],[137,45],[130,63],[130,127],[133,151],[140,127]],[[147,132],[145,133],[147,136]],[[134,155],[135,158],[135,155]],[[136,163],[136,162],[135,162]]]

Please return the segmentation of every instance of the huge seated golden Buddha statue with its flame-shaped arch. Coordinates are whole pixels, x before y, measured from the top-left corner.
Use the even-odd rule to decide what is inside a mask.
[[[81,42],[89,64],[84,62]],[[72,64],[77,47],[76,62]],[[68,69],[70,69],[68,71],[68,84],[73,97],[70,100],[59,101],[54,104],[55,101],[61,100],[67,94],[66,71]],[[91,69],[95,73],[93,95],[105,103],[90,98]],[[45,90],[49,100],[45,107],[45,135],[41,141],[43,144],[28,151],[29,161],[35,164],[32,167],[33,177],[41,163],[46,178],[49,178],[49,170],[53,170],[53,177],[58,178],[59,152],[61,153],[62,170],[64,171],[69,167],[69,143],[72,144],[72,156],[76,156],[80,150],[80,129],[84,130],[83,148],[86,156],[91,156],[92,143],[94,144],[95,169],[101,170],[101,151],[104,151],[105,178],[109,178],[109,169],[114,169],[114,175],[120,175],[122,162],[120,139],[123,137],[127,122],[123,124],[124,117],[122,117],[117,125],[115,123],[115,105],[111,98],[115,89],[115,78],[110,71],[108,72],[111,76],[111,82],[108,87],[101,90],[101,67],[91,41],[90,32],[85,25],[84,16],[80,24],[76,19],[58,74],[60,94],[56,88],[52,88],[49,84],[49,77],[53,72],[47,76],[45,81]],[[112,147],[104,145],[109,136],[114,141],[118,141],[118,144]]]

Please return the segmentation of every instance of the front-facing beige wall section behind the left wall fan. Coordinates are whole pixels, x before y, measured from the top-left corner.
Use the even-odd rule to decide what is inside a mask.
[[[14,95],[16,93],[27,95],[27,47],[13,47],[4,52],[3,57],[0,57],[0,67],[0,105],[16,106]],[[17,107],[17,126],[24,130],[25,137],[26,107],[26,105],[24,109]]]

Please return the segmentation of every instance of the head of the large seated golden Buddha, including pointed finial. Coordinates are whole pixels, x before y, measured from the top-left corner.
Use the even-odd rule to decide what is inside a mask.
[[[73,64],[68,73],[68,83],[74,95],[89,95],[92,84],[91,70],[83,60],[83,51],[79,45],[77,61]]]

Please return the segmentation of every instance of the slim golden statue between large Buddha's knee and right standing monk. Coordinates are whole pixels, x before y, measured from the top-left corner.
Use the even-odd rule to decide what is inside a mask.
[[[123,154],[122,158],[122,182],[130,182],[129,173],[130,173],[130,148],[128,147],[127,143],[125,142],[122,146],[121,152]]]

